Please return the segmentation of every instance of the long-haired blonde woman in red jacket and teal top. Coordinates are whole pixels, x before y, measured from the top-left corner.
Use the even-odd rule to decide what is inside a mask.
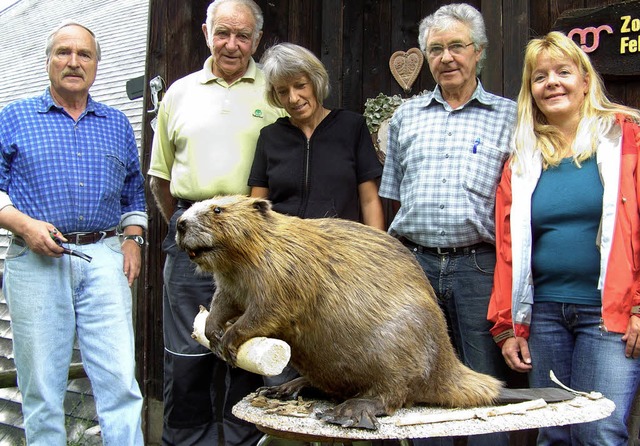
[[[496,197],[488,319],[531,387],[614,401],[601,421],[540,429],[539,445],[626,445],[640,380],[640,114],[611,103],[559,32],[527,45],[514,153]]]

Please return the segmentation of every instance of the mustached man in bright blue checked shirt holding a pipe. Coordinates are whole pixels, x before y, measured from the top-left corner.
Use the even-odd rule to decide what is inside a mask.
[[[0,227],[13,233],[4,294],[27,444],[67,444],[77,335],[104,443],[142,445],[130,286],[147,214],[135,137],[123,113],[89,96],[92,31],[64,22],[46,57],[46,91],[0,111]]]

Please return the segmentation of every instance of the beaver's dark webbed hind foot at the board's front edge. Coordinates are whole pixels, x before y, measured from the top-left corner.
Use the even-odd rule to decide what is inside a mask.
[[[382,401],[379,399],[352,398],[324,412],[316,414],[317,418],[342,427],[355,427],[376,430],[380,422],[376,415],[386,415]]]

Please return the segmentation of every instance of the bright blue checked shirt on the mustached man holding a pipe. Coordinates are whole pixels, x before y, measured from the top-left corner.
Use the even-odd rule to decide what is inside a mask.
[[[112,107],[89,97],[76,122],[48,88],[15,101],[0,111],[0,155],[5,199],[63,233],[147,226],[133,129]]]

